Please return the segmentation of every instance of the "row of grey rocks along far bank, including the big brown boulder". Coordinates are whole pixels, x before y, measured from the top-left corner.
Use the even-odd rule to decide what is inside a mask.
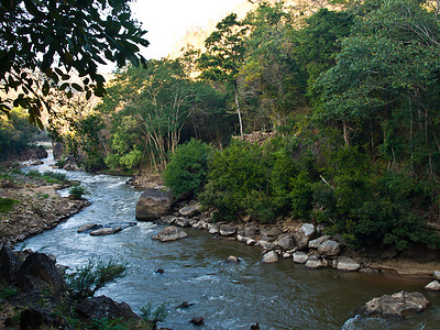
[[[311,223],[304,223],[297,231],[276,226],[264,227],[250,222],[250,219],[244,219],[246,222],[241,224],[212,223],[209,221],[209,215],[199,212],[199,206],[195,201],[177,205],[170,216],[173,202],[169,193],[147,189],[136,205],[138,220],[160,219],[168,226],[154,237],[162,242],[186,238],[187,233],[179,228],[193,227],[208,230],[213,235],[263,248],[263,263],[292,257],[295,263],[305,264],[310,268],[332,266],[341,271],[359,271],[362,266],[353,258],[341,256],[342,243],[330,235],[320,235],[320,229]]]

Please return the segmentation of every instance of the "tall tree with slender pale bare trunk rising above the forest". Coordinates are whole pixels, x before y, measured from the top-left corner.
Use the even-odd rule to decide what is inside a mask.
[[[237,77],[244,58],[243,36],[245,33],[246,28],[237,19],[237,14],[229,14],[217,24],[216,31],[205,41],[207,51],[198,59],[198,67],[202,70],[201,78],[233,84],[237,114],[239,116],[240,134],[242,136],[243,122]]]

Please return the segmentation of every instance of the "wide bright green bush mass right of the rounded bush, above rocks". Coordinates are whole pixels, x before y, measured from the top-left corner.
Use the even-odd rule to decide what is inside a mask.
[[[295,154],[301,155],[298,161]],[[288,212],[306,219],[315,170],[310,157],[296,139],[278,138],[263,146],[234,141],[213,155],[199,199],[226,220],[248,213],[273,222]]]

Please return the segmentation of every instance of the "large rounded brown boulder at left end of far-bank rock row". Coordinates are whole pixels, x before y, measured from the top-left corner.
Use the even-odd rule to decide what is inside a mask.
[[[172,194],[157,189],[145,190],[136,204],[136,219],[153,221],[166,216],[173,205]]]

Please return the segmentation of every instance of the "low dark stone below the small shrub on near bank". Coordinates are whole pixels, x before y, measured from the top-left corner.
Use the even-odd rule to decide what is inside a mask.
[[[141,321],[142,318],[133,312],[125,302],[117,302],[109,297],[99,296],[86,298],[76,307],[79,316],[91,319],[123,319],[125,321]]]

